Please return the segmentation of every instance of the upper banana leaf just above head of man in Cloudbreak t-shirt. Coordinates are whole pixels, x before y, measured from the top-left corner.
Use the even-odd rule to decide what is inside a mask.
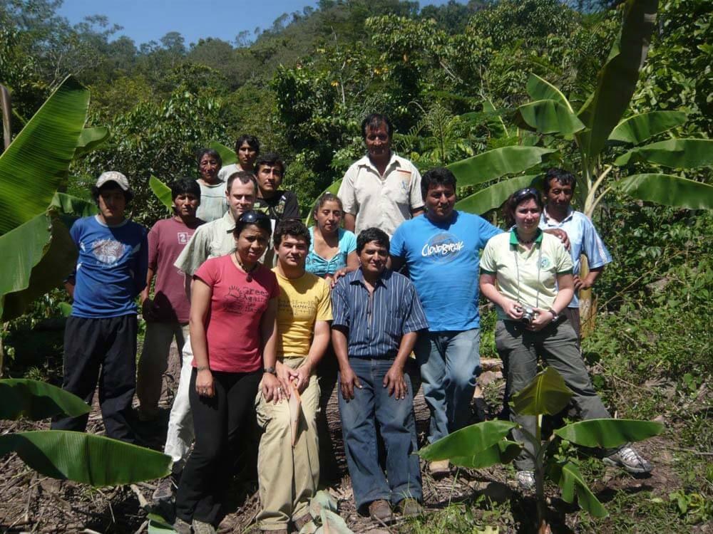
[[[476,185],[500,178],[504,174],[519,174],[555,152],[540,147],[501,147],[447,165],[458,179],[458,187]]]

